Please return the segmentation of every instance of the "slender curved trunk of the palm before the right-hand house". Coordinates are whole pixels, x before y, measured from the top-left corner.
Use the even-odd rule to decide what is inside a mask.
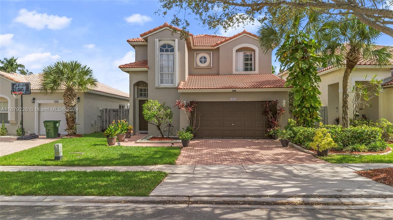
[[[342,105],[342,126],[343,128],[349,127],[349,94],[348,94],[348,84],[349,84],[349,75],[351,75],[352,70],[355,68],[356,64],[360,60],[360,49],[356,47],[352,47],[348,50],[345,61],[346,67],[343,75],[343,105]]]

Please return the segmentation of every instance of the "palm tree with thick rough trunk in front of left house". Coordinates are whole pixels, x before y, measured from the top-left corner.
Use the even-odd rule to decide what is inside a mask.
[[[66,107],[66,131],[70,135],[77,132],[76,128],[76,92],[86,92],[94,88],[97,79],[93,70],[78,61],[57,61],[42,69],[41,92],[53,93],[64,89],[63,99]]]

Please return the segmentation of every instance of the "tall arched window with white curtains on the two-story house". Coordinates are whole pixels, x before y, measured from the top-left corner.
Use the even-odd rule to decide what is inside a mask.
[[[174,47],[169,43],[160,46],[160,84],[174,83]]]

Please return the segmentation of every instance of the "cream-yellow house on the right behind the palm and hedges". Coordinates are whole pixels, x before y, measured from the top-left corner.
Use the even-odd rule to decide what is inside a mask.
[[[393,69],[392,65],[387,65],[383,67],[376,67],[375,61],[361,59],[356,65],[355,69],[349,76],[348,88],[352,88],[356,81],[364,81],[365,75],[368,78],[377,75],[377,79],[383,81],[383,90],[380,96],[371,99],[371,107],[365,106],[364,109],[359,111],[360,118],[365,115],[368,119],[374,121],[385,118],[393,122],[393,92],[391,84],[384,84],[387,81],[391,81],[391,74]],[[318,71],[318,75],[321,77],[321,82],[319,83],[321,91],[321,101],[322,106],[327,106],[327,114],[324,114],[326,124],[337,124],[334,119],[336,117],[342,117],[342,81],[345,67],[333,67],[328,66],[324,69]],[[288,77],[287,72],[282,72],[279,74],[283,79]],[[349,118],[353,118],[353,104],[352,104],[352,94],[349,91]],[[342,120],[340,120],[342,123]]]

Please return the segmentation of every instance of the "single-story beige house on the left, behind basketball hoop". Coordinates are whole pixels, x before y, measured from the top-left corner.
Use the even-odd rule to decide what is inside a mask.
[[[45,135],[43,121],[61,120],[59,132],[67,134],[66,119],[64,115],[63,90],[53,94],[43,94],[39,91],[41,75],[20,75],[16,73],[6,73],[0,71],[0,123],[4,121],[8,134],[16,134],[20,123],[21,114],[9,108],[20,108],[20,98],[15,99],[11,94],[11,83],[29,82],[31,88],[30,95],[23,95],[23,108],[28,111],[23,112],[23,126],[26,132]],[[102,83],[97,83],[97,87],[88,92],[77,92],[77,133],[98,132],[98,115],[101,108],[127,108],[129,105],[129,94],[117,89],[108,87]],[[32,110],[30,108],[33,108]],[[39,110],[40,108],[40,110]],[[52,109],[51,109],[52,108]],[[54,111],[53,108],[61,111]],[[42,110],[41,110],[42,109]]]

